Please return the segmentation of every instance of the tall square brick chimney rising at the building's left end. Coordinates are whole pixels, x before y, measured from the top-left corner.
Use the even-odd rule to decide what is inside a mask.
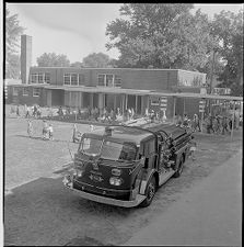
[[[32,66],[32,36],[21,35],[21,80],[28,83],[30,68]]]

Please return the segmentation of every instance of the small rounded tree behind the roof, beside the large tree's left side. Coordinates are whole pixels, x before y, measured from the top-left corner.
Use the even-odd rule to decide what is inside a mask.
[[[111,58],[103,53],[93,53],[83,58],[84,67],[93,68],[108,68],[111,66]]]

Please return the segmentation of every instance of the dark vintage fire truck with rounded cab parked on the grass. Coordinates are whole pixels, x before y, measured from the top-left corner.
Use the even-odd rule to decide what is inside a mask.
[[[190,131],[163,123],[84,133],[62,182],[86,200],[149,206],[162,184],[181,176],[193,138]]]

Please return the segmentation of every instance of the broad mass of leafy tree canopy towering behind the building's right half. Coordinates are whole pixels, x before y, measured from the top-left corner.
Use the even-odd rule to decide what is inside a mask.
[[[214,74],[233,94],[243,91],[243,11],[209,20],[193,4],[125,3],[106,26],[107,49],[118,48],[118,67],[176,68]],[[214,52],[214,61],[213,61]]]

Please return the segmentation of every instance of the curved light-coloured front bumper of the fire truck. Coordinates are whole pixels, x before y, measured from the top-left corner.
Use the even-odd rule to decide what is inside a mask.
[[[63,178],[62,182],[66,188],[74,191],[83,199],[88,199],[88,200],[91,200],[94,202],[100,202],[100,203],[109,204],[109,205],[116,205],[116,206],[123,206],[123,207],[133,207],[133,206],[139,205],[146,199],[146,195],[137,194],[135,200],[129,200],[129,201],[117,200],[117,199],[106,198],[103,195],[93,194],[93,193],[89,193],[89,192],[85,192],[82,190],[74,189],[72,180],[70,180],[67,177]]]

